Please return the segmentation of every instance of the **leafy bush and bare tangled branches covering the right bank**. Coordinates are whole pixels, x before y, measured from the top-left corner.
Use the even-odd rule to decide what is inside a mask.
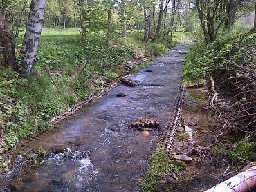
[[[235,133],[234,144],[222,148],[232,164],[253,161],[256,155],[256,35],[238,43],[242,34],[223,33],[211,44],[195,44],[183,68],[189,86],[204,84],[211,89],[212,77],[219,95],[228,99],[228,107],[219,115],[232,122],[229,131]]]

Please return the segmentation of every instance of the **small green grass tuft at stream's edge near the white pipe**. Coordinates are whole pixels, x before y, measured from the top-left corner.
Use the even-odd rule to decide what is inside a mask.
[[[143,191],[156,191],[159,177],[170,173],[178,173],[183,169],[185,169],[184,162],[170,160],[163,148],[157,148],[149,160],[149,171],[146,173],[142,183]]]

